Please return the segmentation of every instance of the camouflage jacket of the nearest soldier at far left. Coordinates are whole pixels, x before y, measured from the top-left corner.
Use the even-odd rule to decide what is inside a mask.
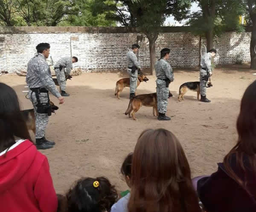
[[[39,53],[28,62],[26,83],[29,88],[46,88],[57,98],[61,96],[52,80],[52,74],[46,58]]]

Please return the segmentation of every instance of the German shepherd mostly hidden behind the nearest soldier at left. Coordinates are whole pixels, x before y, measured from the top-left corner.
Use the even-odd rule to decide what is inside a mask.
[[[50,101],[50,105],[52,106],[52,113],[55,113],[55,110],[58,110],[58,107]],[[23,118],[26,122],[28,130],[32,130],[35,134],[35,113],[34,109],[21,110]]]

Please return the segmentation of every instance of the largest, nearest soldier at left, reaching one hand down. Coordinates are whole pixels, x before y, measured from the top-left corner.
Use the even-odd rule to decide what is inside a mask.
[[[45,139],[45,128],[48,123],[49,91],[58,98],[59,104],[64,103],[64,98],[58,92],[52,80],[51,71],[46,59],[49,57],[49,43],[40,43],[36,46],[38,54],[29,60],[26,83],[29,86],[29,99],[35,111],[35,139],[36,147],[44,150],[52,148],[55,142]],[[49,114],[50,115],[50,114]]]

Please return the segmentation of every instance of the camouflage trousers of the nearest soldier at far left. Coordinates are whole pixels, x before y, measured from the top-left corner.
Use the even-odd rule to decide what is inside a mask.
[[[32,91],[29,90],[29,99],[33,103],[34,112],[35,112],[35,138],[41,139],[42,137],[44,137],[45,129],[48,124],[49,117],[47,113],[36,112],[37,110],[36,105],[38,104],[38,102],[35,96],[35,92],[33,92],[32,95],[31,93]],[[40,102],[42,103],[48,102],[47,93],[39,93],[39,99],[40,99]]]

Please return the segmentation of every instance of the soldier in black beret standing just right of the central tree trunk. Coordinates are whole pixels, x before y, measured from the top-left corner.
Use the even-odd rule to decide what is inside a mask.
[[[169,97],[169,84],[173,82],[174,75],[171,65],[167,62],[169,58],[170,49],[163,48],[161,51],[161,57],[155,65],[156,76],[157,76],[157,110],[160,121],[171,120],[170,117],[166,116],[168,97]]]

